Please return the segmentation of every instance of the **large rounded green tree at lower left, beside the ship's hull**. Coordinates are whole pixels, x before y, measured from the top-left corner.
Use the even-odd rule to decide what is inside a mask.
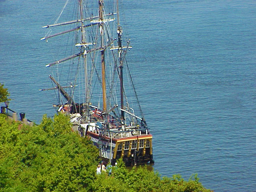
[[[0,187],[3,191],[86,191],[98,162],[91,141],[71,131],[68,116],[46,115],[38,126],[0,116]]]

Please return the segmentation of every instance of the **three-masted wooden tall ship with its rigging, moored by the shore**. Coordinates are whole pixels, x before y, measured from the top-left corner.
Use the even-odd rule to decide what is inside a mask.
[[[55,61],[46,64],[53,87],[40,91],[55,90],[53,107],[90,137],[105,163],[122,158],[127,166],[153,164],[152,135],[135,91],[131,40],[120,7],[120,0],[65,2],[55,23],[43,26],[41,40],[57,38],[58,54],[50,51]]]

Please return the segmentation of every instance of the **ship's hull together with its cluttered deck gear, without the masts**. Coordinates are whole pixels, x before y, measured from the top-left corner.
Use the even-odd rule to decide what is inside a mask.
[[[140,129],[138,124],[117,126],[116,119],[109,118],[110,128],[104,129],[104,121],[100,118],[102,111],[91,110],[94,121],[81,123],[79,114],[71,115],[73,130],[83,137],[88,136],[93,145],[99,149],[99,156],[107,164],[115,164],[122,158],[126,166],[154,164],[152,135],[149,129]],[[96,115],[97,114],[97,115]],[[77,118],[78,117],[78,118]]]

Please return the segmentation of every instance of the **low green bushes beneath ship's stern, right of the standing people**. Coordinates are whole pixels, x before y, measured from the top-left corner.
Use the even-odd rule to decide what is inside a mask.
[[[185,181],[181,175],[173,175],[172,178],[164,177],[158,172],[148,171],[146,166],[125,168],[122,161],[118,162],[118,168],[113,170],[114,177],[119,183],[127,186],[130,192],[211,192],[199,182],[197,174]]]

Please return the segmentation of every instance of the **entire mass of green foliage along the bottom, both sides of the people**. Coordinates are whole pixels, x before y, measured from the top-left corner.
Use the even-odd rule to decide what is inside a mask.
[[[189,181],[161,178],[144,166],[128,170],[122,161],[111,176],[96,175],[98,150],[71,132],[65,115],[18,129],[1,114],[0,132],[0,191],[210,191],[197,175]]]

